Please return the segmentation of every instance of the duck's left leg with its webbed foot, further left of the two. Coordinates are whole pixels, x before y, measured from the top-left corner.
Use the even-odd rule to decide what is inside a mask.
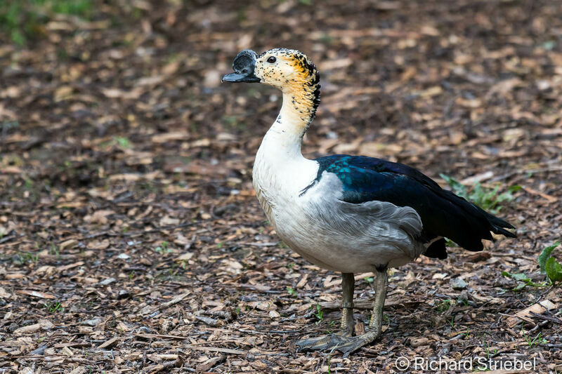
[[[341,290],[344,294],[344,306],[341,309],[341,326],[338,333],[299,340],[296,345],[299,351],[333,348],[346,342],[353,335],[353,273],[341,273]]]

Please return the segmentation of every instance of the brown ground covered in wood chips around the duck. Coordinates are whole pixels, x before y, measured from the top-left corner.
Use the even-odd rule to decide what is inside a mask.
[[[2,34],[2,373],[562,371],[562,291],[537,265],[562,233],[560,2],[92,1],[25,46]],[[280,243],[251,186],[280,93],[220,82],[277,46],[322,76],[307,156],[521,186],[498,213],[518,238],[394,269],[384,334],[350,359],[295,352],[339,325],[339,274]]]

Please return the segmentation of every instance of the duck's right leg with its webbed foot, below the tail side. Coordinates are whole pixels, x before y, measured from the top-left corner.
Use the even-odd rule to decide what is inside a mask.
[[[344,357],[349,356],[351,352],[369,344],[381,335],[382,309],[384,307],[384,299],[386,298],[387,285],[388,274],[386,273],[386,268],[377,269],[377,279],[374,283],[375,295],[373,302],[373,314],[369,322],[369,331],[363,335],[348,338],[345,342],[337,345],[336,349],[344,353]]]

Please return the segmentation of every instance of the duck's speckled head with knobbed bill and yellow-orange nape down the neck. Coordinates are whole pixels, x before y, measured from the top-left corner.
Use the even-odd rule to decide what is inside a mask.
[[[234,73],[223,81],[259,82],[280,89],[289,96],[294,109],[308,123],[320,104],[320,73],[313,62],[300,51],[273,48],[257,55],[244,50],[233,62]]]

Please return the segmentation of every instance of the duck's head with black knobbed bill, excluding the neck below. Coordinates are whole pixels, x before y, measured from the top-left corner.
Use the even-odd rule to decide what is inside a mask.
[[[259,82],[283,92],[318,89],[320,74],[304,53],[274,48],[258,55],[246,49],[236,56],[234,72],[223,76],[227,82]]]

